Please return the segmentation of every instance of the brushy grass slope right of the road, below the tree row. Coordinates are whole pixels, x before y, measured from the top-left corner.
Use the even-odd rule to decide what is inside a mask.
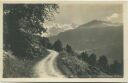
[[[111,77],[101,72],[98,68],[91,67],[88,63],[79,60],[77,56],[72,56],[66,52],[60,53],[60,56],[58,56],[57,61],[58,67],[67,77]]]

